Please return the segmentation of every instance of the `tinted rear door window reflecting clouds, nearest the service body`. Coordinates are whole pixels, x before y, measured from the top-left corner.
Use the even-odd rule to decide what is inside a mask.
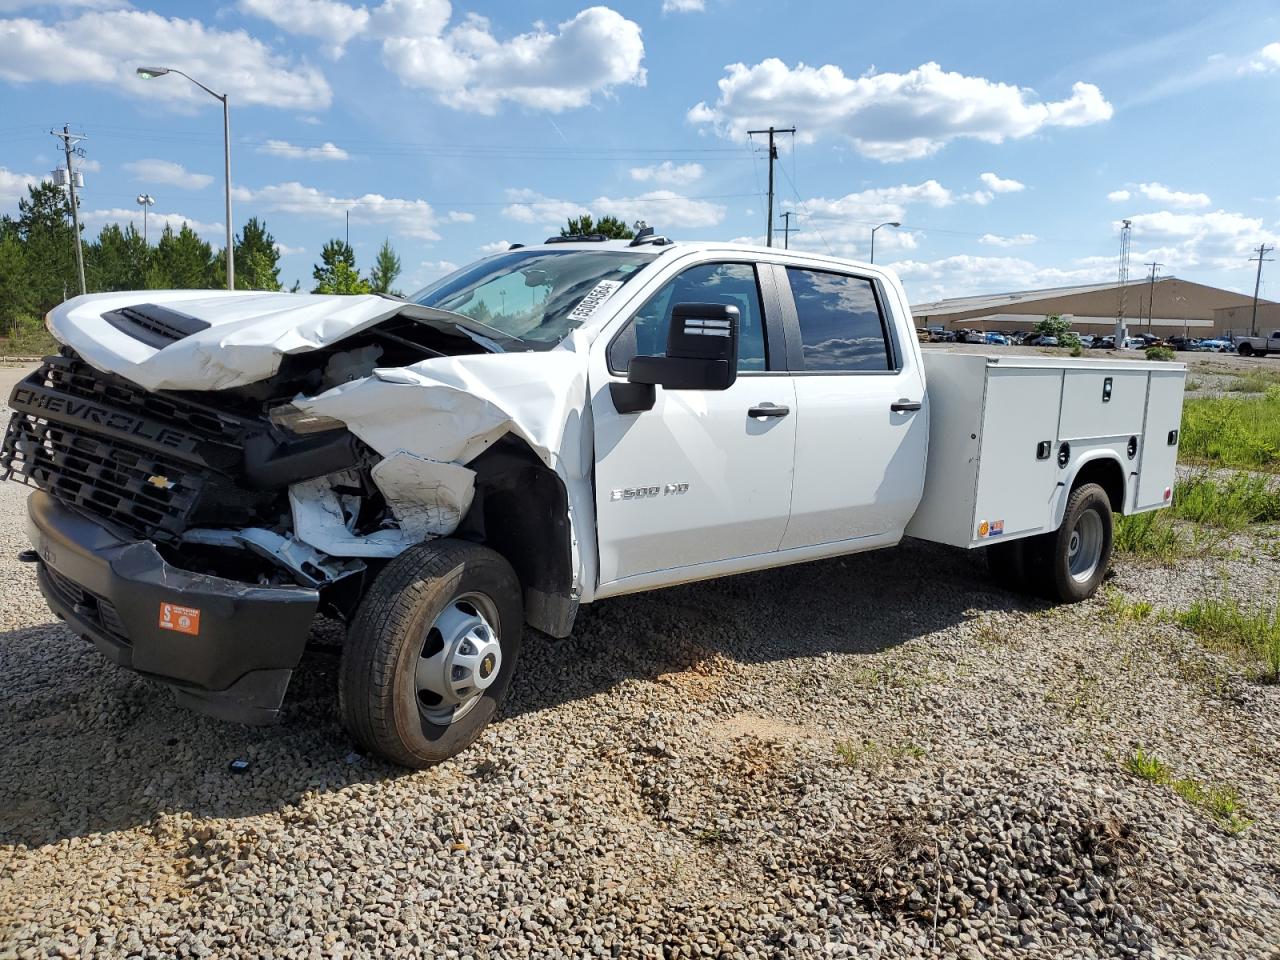
[[[891,370],[870,280],[787,268],[805,370]]]

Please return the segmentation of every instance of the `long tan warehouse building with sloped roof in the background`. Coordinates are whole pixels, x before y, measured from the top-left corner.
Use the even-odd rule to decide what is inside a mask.
[[[1119,283],[1093,283],[1079,287],[1050,287],[1039,291],[992,293],[980,297],[955,297],[911,307],[916,326],[942,326],[947,330],[974,329],[1030,330],[1046,315],[1070,320],[1076,333],[1115,333],[1120,308]],[[1130,280],[1124,289],[1125,319],[1132,334],[1157,337],[1224,337],[1248,333],[1253,297],[1206,287],[1202,283],[1164,276]],[[1280,303],[1258,301],[1258,326],[1267,320],[1280,328]],[[1242,320],[1243,317],[1243,320]]]

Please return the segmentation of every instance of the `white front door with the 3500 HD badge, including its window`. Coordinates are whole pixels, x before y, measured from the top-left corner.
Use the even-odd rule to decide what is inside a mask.
[[[797,416],[781,333],[768,335],[773,278],[758,273],[732,261],[685,268],[596,340],[595,508],[608,593],[625,593],[628,580],[644,586],[659,571],[771,553],[782,541]],[[620,413],[609,384],[626,383],[634,356],[663,353],[671,310],[687,302],[739,308],[737,380],[726,390],[658,387],[652,410]]]

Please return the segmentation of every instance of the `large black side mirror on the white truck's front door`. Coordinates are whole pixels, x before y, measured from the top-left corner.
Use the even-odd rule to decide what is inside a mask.
[[[635,357],[627,380],[668,390],[727,390],[737,380],[737,307],[677,303],[671,310],[667,356]]]

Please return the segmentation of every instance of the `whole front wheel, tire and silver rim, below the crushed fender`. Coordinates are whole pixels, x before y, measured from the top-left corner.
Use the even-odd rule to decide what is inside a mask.
[[[338,684],[347,731],[402,767],[466,749],[507,692],[522,625],[520,581],[500,554],[461,540],[404,550],[347,631]]]

